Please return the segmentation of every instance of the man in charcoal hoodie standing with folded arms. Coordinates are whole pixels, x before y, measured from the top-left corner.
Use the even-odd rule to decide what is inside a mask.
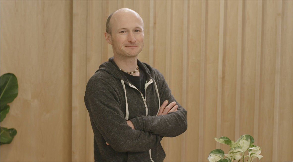
[[[163,161],[162,138],[187,129],[187,112],[173,98],[163,75],[137,59],[143,29],[142,18],[131,9],[108,17],[105,38],[114,57],[100,65],[84,96],[95,161]]]

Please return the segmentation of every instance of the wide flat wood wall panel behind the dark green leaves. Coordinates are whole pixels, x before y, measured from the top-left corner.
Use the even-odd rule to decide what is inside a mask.
[[[18,79],[0,161],[71,161],[72,1],[0,4],[0,73]]]

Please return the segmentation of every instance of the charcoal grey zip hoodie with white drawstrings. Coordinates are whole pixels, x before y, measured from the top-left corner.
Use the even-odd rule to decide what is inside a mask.
[[[187,112],[178,102],[177,112],[157,116],[165,100],[176,100],[158,70],[139,60],[137,64],[147,75],[145,98],[113,58],[100,65],[86,85],[84,102],[93,127],[95,161],[163,161],[162,138],[187,129]]]

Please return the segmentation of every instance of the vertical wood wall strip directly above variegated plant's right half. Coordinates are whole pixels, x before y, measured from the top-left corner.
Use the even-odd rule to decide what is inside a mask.
[[[257,48],[257,6],[258,1],[244,1],[243,4],[243,36],[242,36],[242,66],[241,66],[241,94],[240,94],[240,122],[239,136],[249,134],[253,137],[254,107],[255,107],[255,75]],[[238,138],[239,138],[238,136]],[[236,139],[235,139],[236,140]]]

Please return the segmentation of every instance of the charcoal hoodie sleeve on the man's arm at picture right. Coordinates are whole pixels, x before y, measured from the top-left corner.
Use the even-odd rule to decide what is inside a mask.
[[[157,85],[160,95],[160,103],[168,100],[178,105],[178,111],[159,116],[140,116],[131,119],[134,128],[163,137],[175,137],[184,133],[187,129],[187,111],[174,99],[163,75],[157,71]]]

